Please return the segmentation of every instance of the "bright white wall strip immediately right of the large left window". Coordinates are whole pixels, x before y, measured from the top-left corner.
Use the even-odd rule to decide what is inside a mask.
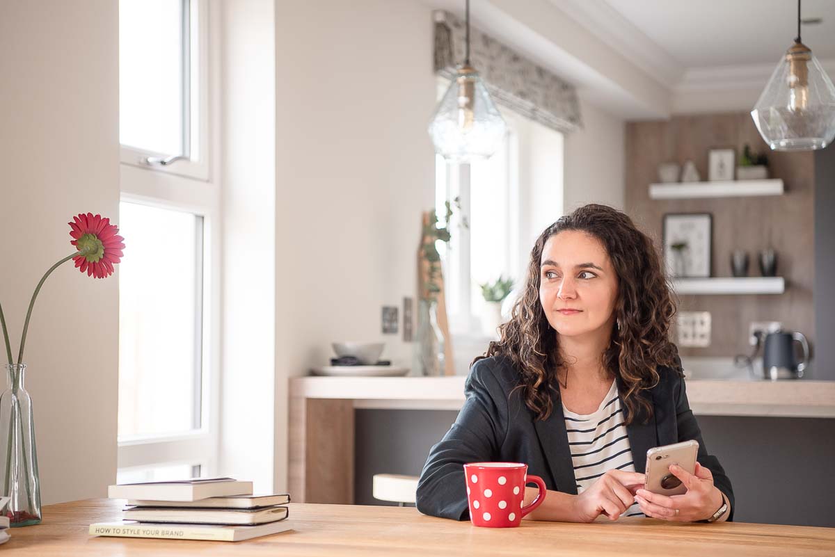
[[[223,373],[218,474],[273,489],[276,73],[273,0],[216,13],[222,48]],[[284,268],[280,273],[286,273]]]

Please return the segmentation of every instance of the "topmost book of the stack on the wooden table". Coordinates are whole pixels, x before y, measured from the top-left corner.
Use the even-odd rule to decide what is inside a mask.
[[[111,485],[110,499],[162,499],[166,501],[195,501],[222,495],[248,495],[252,482],[232,478],[193,478],[177,481],[142,482]]]

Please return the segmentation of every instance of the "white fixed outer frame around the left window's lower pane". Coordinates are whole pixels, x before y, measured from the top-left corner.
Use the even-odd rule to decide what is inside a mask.
[[[195,319],[202,321],[200,359],[200,428],[178,434],[137,435],[118,439],[118,468],[144,469],[171,464],[200,466],[203,476],[216,474],[220,437],[220,261],[221,261],[221,205],[220,183],[211,180],[209,146],[215,143],[210,133],[219,121],[218,109],[210,105],[215,95],[216,73],[220,68],[217,48],[209,50],[208,36],[219,32],[219,26],[208,18],[209,4],[214,0],[191,0],[195,13],[197,37],[190,33],[192,43],[200,48],[191,53],[198,58],[200,78],[195,91],[199,96],[201,159],[199,162],[180,160],[170,166],[150,166],[136,163],[134,148],[122,147],[120,165],[121,201],[141,203],[194,213],[203,218],[202,235],[202,308]],[[194,27],[193,27],[194,28]],[[215,42],[216,43],[216,42]],[[210,76],[211,71],[211,76]],[[211,79],[210,79],[211,77]],[[129,156],[126,156],[127,155]],[[130,153],[134,153],[131,155]],[[153,153],[152,153],[153,154]],[[133,157],[133,158],[130,158]],[[215,173],[216,174],[216,173]],[[129,252],[126,252],[129,257]]]

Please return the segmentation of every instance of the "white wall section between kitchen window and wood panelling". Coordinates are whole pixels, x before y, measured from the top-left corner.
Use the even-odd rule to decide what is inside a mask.
[[[588,103],[579,92],[583,129],[565,136],[564,212],[585,203],[623,209],[625,122]]]

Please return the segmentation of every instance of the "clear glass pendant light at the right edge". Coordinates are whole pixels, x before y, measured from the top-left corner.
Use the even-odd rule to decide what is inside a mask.
[[[835,87],[812,50],[797,38],[777,64],[751,111],[762,138],[775,151],[822,149],[835,138]]]

